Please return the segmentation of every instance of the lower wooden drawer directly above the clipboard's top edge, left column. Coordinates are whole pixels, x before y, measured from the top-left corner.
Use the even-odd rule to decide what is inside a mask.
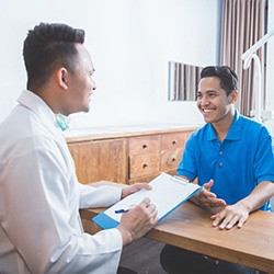
[[[147,153],[129,157],[129,179],[145,176],[160,171],[160,155]]]

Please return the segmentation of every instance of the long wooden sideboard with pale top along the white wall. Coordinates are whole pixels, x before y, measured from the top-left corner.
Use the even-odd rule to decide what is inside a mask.
[[[130,129],[130,130],[129,130]],[[123,127],[119,130],[66,136],[81,183],[101,180],[122,184],[148,182],[160,172],[175,174],[185,142],[197,126]]]

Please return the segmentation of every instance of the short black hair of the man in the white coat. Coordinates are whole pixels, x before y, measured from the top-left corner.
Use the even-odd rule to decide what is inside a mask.
[[[39,23],[28,31],[23,48],[27,72],[26,88],[39,89],[55,69],[61,66],[73,72],[78,56],[76,43],[83,44],[83,42],[84,31],[66,24]]]

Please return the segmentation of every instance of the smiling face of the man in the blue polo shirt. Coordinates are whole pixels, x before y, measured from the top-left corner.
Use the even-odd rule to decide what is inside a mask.
[[[232,91],[227,95],[226,91],[220,87],[218,77],[202,78],[198,83],[197,107],[206,123],[230,123],[235,114],[233,104],[237,96],[237,91]]]

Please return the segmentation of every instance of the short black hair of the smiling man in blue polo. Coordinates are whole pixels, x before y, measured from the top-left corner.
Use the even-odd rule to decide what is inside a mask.
[[[220,79],[220,87],[229,95],[233,90],[238,90],[238,76],[228,66],[208,66],[201,71],[201,79],[217,77]]]

